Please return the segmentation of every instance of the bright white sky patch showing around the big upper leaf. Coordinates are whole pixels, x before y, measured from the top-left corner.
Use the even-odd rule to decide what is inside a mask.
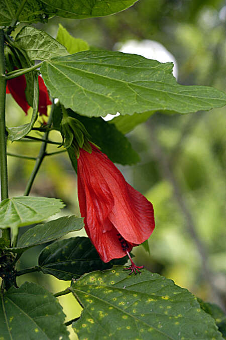
[[[117,43],[115,45],[115,50],[124,53],[132,53],[142,55],[147,59],[158,60],[161,63],[167,63],[172,61],[173,66],[173,75],[177,78],[178,75],[178,67],[177,62],[174,56],[160,43],[154,40],[128,40],[126,43]],[[102,117],[104,121],[110,121],[111,119],[119,116],[120,113],[117,112],[116,115],[106,115],[106,117]]]

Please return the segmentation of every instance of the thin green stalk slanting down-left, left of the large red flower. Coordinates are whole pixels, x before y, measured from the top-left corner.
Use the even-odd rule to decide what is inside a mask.
[[[51,107],[51,113],[50,113],[50,116],[49,116],[49,121],[48,121],[48,125],[50,126],[51,123],[52,123],[52,115],[53,115],[53,109],[54,109],[54,104],[52,104],[52,107]],[[43,136],[43,140],[41,139],[42,141],[42,145],[41,145],[41,148],[40,148],[40,151],[39,151],[39,154],[38,154],[38,157],[36,159],[36,163],[35,163],[35,166],[33,168],[33,171],[31,173],[31,176],[28,180],[28,184],[26,186],[26,189],[25,189],[25,192],[24,192],[24,196],[28,196],[30,191],[31,191],[31,188],[32,188],[32,185],[34,183],[34,180],[35,180],[35,177],[39,171],[39,168],[43,162],[43,159],[45,158],[46,156],[46,147],[47,147],[47,143],[48,143],[48,136],[49,136],[49,131],[47,130]]]

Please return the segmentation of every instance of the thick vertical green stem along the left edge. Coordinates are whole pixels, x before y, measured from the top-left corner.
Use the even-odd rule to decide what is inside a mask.
[[[7,131],[6,131],[6,79],[4,57],[4,31],[0,30],[0,172],[1,172],[1,199],[8,198],[8,171],[7,171]],[[0,237],[10,240],[10,230],[2,231]]]

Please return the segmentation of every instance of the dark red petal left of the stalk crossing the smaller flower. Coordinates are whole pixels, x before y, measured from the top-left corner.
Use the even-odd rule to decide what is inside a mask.
[[[19,77],[10,79],[7,81],[7,92],[11,93],[16,102],[21,106],[21,108],[25,111],[26,115],[28,114],[28,109],[30,105],[27,102],[25,89],[27,83],[25,75],[20,75]]]

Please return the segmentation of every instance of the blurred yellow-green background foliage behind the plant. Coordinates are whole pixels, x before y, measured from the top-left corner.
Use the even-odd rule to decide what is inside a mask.
[[[175,57],[178,82],[212,85],[225,90],[226,6],[221,0],[140,0],[114,16],[87,20],[53,18],[37,24],[56,37],[61,23],[75,38],[90,46],[112,50],[118,42],[150,39]],[[150,254],[142,246],[133,250],[138,265],[173,279],[205,301],[223,306],[226,262],[224,223],[225,108],[190,115],[154,114],[128,134],[141,162],[119,165],[127,181],[153,203],[156,229],[149,240]],[[7,95],[7,124],[29,121]],[[41,118],[39,118],[41,122]],[[37,133],[33,133],[37,137]],[[50,138],[61,141],[58,133]],[[9,152],[37,155],[39,143],[9,143]],[[48,151],[56,151],[49,146]],[[9,156],[10,195],[23,194],[34,161]],[[59,197],[62,214],[79,214],[76,174],[67,154],[46,157],[33,195]],[[23,232],[23,231],[21,231]],[[76,234],[78,235],[78,234]],[[82,231],[79,235],[84,235]],[[42,248],[25,252],[20,268],[36,265]],[[29,274],[53,292],[68,285],[49,275]],[[61,297],[67,319],[80,313],[72,299]]]

